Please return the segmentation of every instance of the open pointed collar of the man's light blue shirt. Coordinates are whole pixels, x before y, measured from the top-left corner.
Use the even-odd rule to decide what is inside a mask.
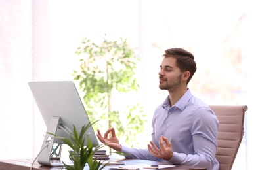
[[[178,107],[180,110],[184,110],[184,108],[186,107],[186,104],[188,103],[191,97],[192,97],[192,93],[190,92],[190,89],[188,89],[186,90],[186,93],[184,93],[184,95],[181,97],[181,99],[179,99],[179,101],[177,101],[177,103],[175,103],[175,105],[173,105],[172,107]],[[170,106],[171,106],[171,103],[168,95],[165,101],[163,101],[162,107],[167,108]]]

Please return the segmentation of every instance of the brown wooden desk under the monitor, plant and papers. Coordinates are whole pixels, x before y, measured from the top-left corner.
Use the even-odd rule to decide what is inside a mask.
[[[136,164],[160,164],[157,161],[149,161],[149,160],[138,160],[138,159],[126,159],[123,157],[111,157],[110,161],[119,161],[125,163],[125,165],[136,165]],[[30,167],[33,163],[32,159],[20,159],[20,160],[0,160],[0,170],[30,170]],[[115,165],[116,167],[120,165]],[[104,169],[108,169],[110,166],[106,166]],[[113,167],[111,165],[111,167]],[[35,161],[33,165],[33,170],[60,170],[61,167],[48,167],[44,165],[40,165]],[[89,169],[89,168],[88,168]],[[166,168],[164,170],[177,170],[177,169],[186,169],[186,170],[206,170],[205,168],[186,166],[186,165],[177,165],[176,167]]]

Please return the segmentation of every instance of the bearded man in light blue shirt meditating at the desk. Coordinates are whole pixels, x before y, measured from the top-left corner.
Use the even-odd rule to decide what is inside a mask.
[[[213,110],[187,87],[195,72],[196,63],[190,52],[182,48],[165,50],[158,73],[159,88],[167,90],[169,95],[154,112],[148,149],[121,146],[114,128],[108,129],[104,136],[98,130],[98,139],[116,151],[129,154],[127,158],[219,169],[215,158],[219,121]]]

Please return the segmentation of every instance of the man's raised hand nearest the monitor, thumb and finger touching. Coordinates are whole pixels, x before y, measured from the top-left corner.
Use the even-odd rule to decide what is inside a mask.
[[[108,137],[109,135],[110,137]],[[110,148],[116,151],[121,151],[121,145],[119,144],[119,140],[116,137],[115,129],[113,127],[108,129],[104,133],[104,137],[102,137],[100,130],[98,129],[97,137],[98,137],[98,140],[100,140],[100,142],[106,144]]]

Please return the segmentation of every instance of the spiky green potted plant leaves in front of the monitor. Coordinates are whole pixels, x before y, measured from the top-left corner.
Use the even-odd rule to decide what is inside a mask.
[[[92,124],[94,124],[93,122]],[[70,160],[73,161],[73,165],[67,165],[64,163],[64,167],[68,170],[83,170],[86,163],[89,165],[90,169],[97,170],[103,169],[106,165],[102,165],[101,161],[97,161],[96,158],[93,159],[93,154],[98,151],[100,148],[105,146],[104,144],[101,146],[96,146],[91,143],[89,139],[89,135],[87,134],[87,130],[92,124],[87,124],[81,127],[81,132],[78,134],[77,129],[73,126],[73,131],[70,131],[67,127],[58,126],[65,133],[67,133],[68,138],[59,137],[52,133],[55,138],[60,139],[64,144],[70,146],[71,150],[69,151]],[[87,140],[87,146],[85,146],[85,141]]]

